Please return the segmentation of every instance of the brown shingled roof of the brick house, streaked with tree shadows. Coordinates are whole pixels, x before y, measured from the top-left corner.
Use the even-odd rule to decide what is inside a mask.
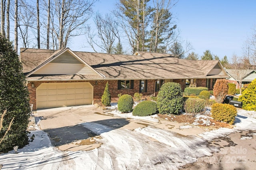
[[[69,50],[70,49],[66,49]],[[31,73],[62,50],[20,49],[20,59],[25,74]],[[228,78],[226,71],[216,60],[178,59],[170,54],[137,51],[134,55],[90,53],[72,51],[82,61],[91,66],[103,77],[86,75],[30,75],[30,80],[65,80],[70,76],[76,79],[192,79]],[[222,70],[216,72],[214,70]]]

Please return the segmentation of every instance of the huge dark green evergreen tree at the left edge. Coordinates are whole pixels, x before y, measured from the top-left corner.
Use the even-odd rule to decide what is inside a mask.
[[[11,130],[0,145],[0,152],[12,150],[14,146],[22,147],[28,142],[26,129],[30,104],[25,78],[12,44],[0,35],[0,113],[7,109],[0,138],[14,117]]]

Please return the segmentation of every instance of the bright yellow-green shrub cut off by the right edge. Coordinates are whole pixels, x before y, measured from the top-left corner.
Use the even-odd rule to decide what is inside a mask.
[[[256,111],[256,79],[248,84],[248,87],[244,89],[238,100],[243,102],[243,109]]]

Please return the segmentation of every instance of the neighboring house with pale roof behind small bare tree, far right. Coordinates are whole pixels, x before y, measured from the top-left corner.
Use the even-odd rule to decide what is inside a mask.
[[[236,84],[236,88],[239,89],[239,82],[242,81],[242,87],[244,84],[249,84],[256,78],[255,70],[235,70],[235,69],[226,69],[226,72],[230,76],[227,78],[229,83]]]

